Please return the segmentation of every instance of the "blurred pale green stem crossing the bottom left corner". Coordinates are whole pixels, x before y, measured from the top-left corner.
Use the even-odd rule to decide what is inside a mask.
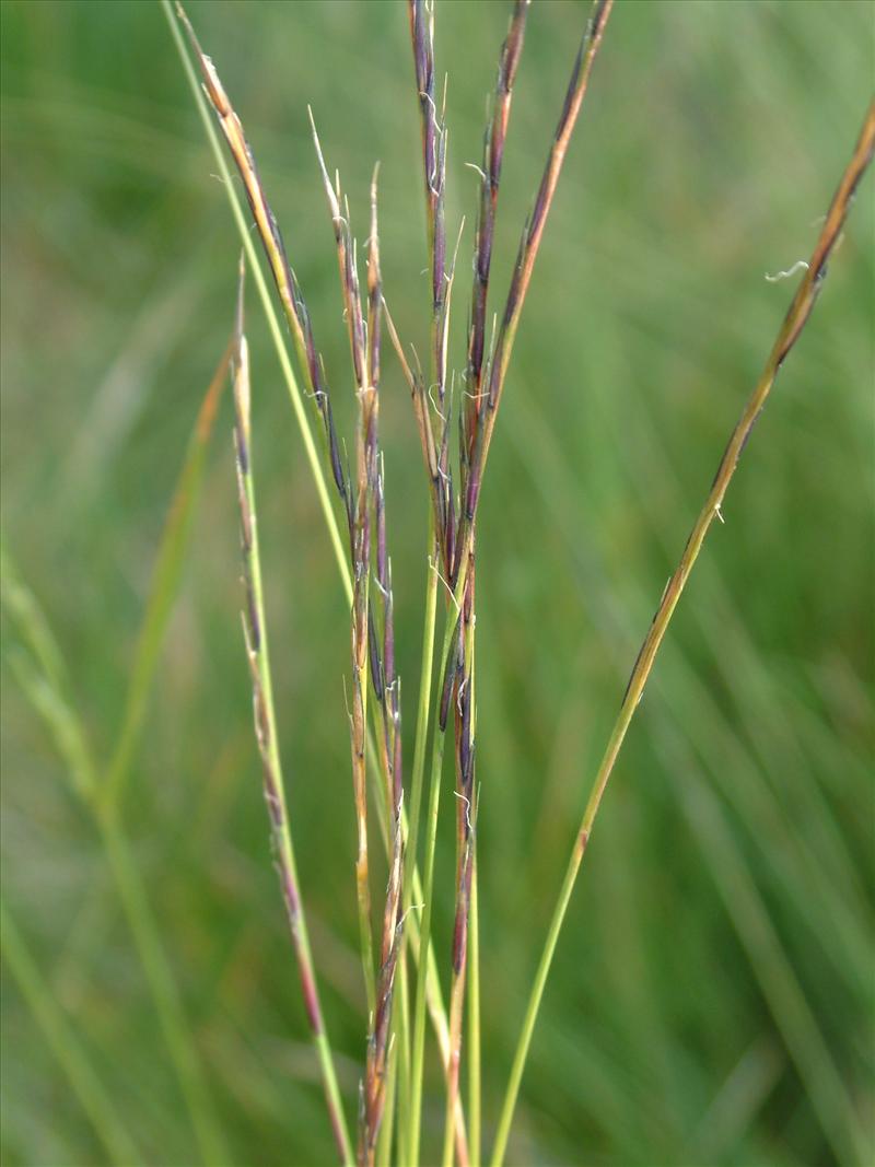
[[[142,1162],[125,1127],[116,1117],[112,1103],[94,1072],[84,1049],[69,1027],[49,985],[42,979],[36,960],[28,951],[12,914],[0,900],[2,955],[15,978],[21,995],[30,1007],[36,1023],[61,1063],[100,1142],[111,1161],[119,1167]]]

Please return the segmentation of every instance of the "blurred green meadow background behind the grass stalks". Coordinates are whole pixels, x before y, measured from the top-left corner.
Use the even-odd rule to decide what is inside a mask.
[[[236,237],[156,4],[2,15],[2,522],[99,764],[188,435],[226,343]],[[400,2],[191,4],[352,394],[312,103],[354,229],[427,347],[418,111]],[[499,204],[506,288],[587,6],[533,5]],[[484,1107],[491,1135],[589,780],[637,647],[792,294],[873,76],[868,2],[618,0],[523,317],[478,543]],[[508,6],[439,2],[452,235]],[[813,1165],[873,1138],[873,180],[748,447],[587,853],[532,1047],[512,1163]],[[257,488],[299,864],[342,1084],[364,1056],[342,678],[348,620],[250,298]],[[492,307],[498,310],[496,298]],[[425,480],[386,357],[383,427],[407,746]],[[271,868],[222,404],[124,822],[233,1161],[332,1159]],[[188,1114],[91,815],[4,623],[2,893],[146,1161]],[[447,778],[449,782],[449,778]],[[449,963],[453,827],[438,854]],[[377,869],[376,883],[382,880]],[[2,1158],[104,1162],[4,966]],[[428,1063],[426,1147],[442,1095]],[[852,1117],[853,1116],[853,1117]],[[827,1132],[832,1132],[831,1135]],[[873,1148],[875,1156],[875,1148]],[[873,1161],[870,1159],[870,1161]]]

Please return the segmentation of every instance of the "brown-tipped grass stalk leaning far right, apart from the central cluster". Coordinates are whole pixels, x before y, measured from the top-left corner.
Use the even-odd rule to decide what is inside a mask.
[[[523,1070],[528,1047],[531,1044],[534,1023],[538,1016],[541,999],[544,997],[544,988],[550,973],[553,955],[555,952],[559,934],[562,928],[562,922],[572,897],[572,892],[574,890],[578,872],[589,841],[593,824],[598,812],[598,806],[608,784],[608,780],[614,770],[614,766],[623,745],[623,740],[625,739],[626,731],[632,717],[635,715],[635,710],[637,708],[643,696],[644,686],[653,666],[656,655],[659,651],[659,645],[663,642],[671,617],[678,605],[681,592],[684,591],[684,586],[690,576],[690,572],[695,564],[699,551],[705,541],[705,537],[708,533],[708,529],[714,519],[720,516],[720,508],[723,502],[723,497],[735,473],[742,450],[752,433],[754,426],[763,410],[763,406],[765,405],[771,387],[775,384],[775,378],[777,377],[791,349],[796,344],[796,341],[804,329],[814,307],[826,274],[830,257],[841,235],[854,193],[860,180],[862,179],[863,173],[872,161],[874,151],[875,104],[870,105],[867,111],[862,131],[850,161],[848,162],[841,181],[839,182],[835,195],[833,196],[833,201],[830,205],[830,210],[827,211],[805,275],[799,284],[796,295],[793,296],[780,330],[778,331],[777,340],[775,341],[765,362],[763,372],[754,387],[754,391],[748,398],[741,418],[729,438],[729,442],[718,467],[718,471],[708,491],[705,505],[693,525],[693,530],[687,539],[680,562],[666,585],[665,592],[663,593],[663,598],[656,610],[653,621],[644,643],[642,644],[638,658],[629,678],[629,684],[623,697],[617,720],[614,729],[611,731],[604,756],[593,782],[589,801],[587,802],[583,811],[583,817],[575,837],[574,846],[572,847],[566,874],[562,880],[559,897],[547,930],[544,951],[541,953],[534,984],[528,999],[528,1005],[523,1021],[523,1029],[513,1057],[510,1081],[508,1083],[508,1090],[502,1107],[492,1153],[492,1167],[501,1167],[501,1163],[504,1161],[508,1138],[510,1135],[510,1127],[513,1119],[513,1110],[519,1093],[519,1085],[523,1078]]]

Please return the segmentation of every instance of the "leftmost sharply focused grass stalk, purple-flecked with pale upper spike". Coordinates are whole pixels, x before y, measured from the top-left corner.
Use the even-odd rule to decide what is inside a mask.
[[[242,258],[235,354],[235,448],[237,453],[237,485],[240,504],[240,545],[246,588],[244,631],[246,635],[246,656],[252,672],[256,736],[264,769],[265,801],[271,820],[271,834],[280,874],[280,885],[301,977],[304,1007],[322,1075],[331,1130],[342,1162],[351,1163],[352,1146],[343,1114],[343,1103],[337,1085],[331,1046],[322,1016],[316,972],[307,930],[307,918],[300,893],[298,866],[286,804],[282,762],[276,736],[276,714],[273,703],[267,620],[261,581],[258,512],[256,509],[252,471],[250,365],[249,347],[244,333],[243,280],[244,267]]]

